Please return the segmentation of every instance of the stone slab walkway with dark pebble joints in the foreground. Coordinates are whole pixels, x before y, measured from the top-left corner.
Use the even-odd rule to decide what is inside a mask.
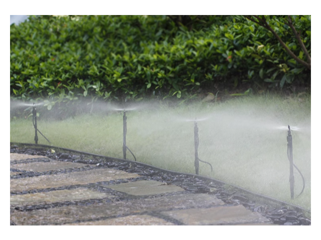
[[[17,225],[270,224],[242,205],[136,173],[18,153],[10,153],[10,169],[10,221]]]

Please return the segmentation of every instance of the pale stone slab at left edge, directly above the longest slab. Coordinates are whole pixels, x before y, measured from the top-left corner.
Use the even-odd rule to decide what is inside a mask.
[[[91,198],[114,197],[111,194],[93,191],[88,188],[64,189],[10,196],[10,205],[35,205],[62,201],[86,200]]]

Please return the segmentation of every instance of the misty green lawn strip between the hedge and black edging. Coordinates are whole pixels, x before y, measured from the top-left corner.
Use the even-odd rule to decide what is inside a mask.
[[[302,207],[311,208],[311,98],[255,96],[223,103],[198,102],[127,112],[127,145],[138,161],[195,172],[194,121],[199,127],[200,174],[208,175]],[[191,121],[187,121],[191,120]],[[287,129],[292,131],[294,162],[305,177],[305,190],[289,193]],[[65,120],[38,120],[53,145],[122,158],[122,112],[85,114]],[[10,121],[10,141],[34,142],[32,119]],[[48,142],[39,135],[39,143]],[[127,158],[133,159],[127,151]],[[295,171],[295,193],[302,187]]]

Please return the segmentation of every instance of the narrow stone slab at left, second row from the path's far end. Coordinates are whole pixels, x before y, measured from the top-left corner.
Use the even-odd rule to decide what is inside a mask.
[[[50,170],[58,170],[58,169],[67,169],[73,167],[83,167],[87,164],[77,163],[77,162],[69,162],[69,161],[55,161],[50,160],[49,162],[30,162],[30,163],[18,163],[14,164],[12,168],[18,170],[26,170],[26,171],[50,171]]]

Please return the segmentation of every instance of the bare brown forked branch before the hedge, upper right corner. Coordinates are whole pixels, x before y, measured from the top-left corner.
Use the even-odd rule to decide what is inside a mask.
[[[311,70],[311,57],[309,56],[309,58],[308,58],[308,61],[309,61],[309,62],[305,62],[305,61],[303,61],[302,59],[298,58],[298,57],[290,50],[290,48],[287,47],[287,45],[282,41],[282,39],[280,38],[280,36],[273,30],[273,28],[266,22],[266,19],[265,19],[264,15],[263,15],[263,18],[259,17],[258,15],[243,15],[243,16],[245,16],[245,17],[248,18],[249,20],[251,20],[251,21],[253,21],[253,22],[255,22],[255,23],[257,23],[257,24],[259,24],[259,25],[261,25],[261,26],[263,26],[263,27],[265,27],[265,28],[268,29],[270,32],[272,32],[272,34],[273,34],[273,35],[276,37],[276,39],[281,43],[281,45],[284,47],[284,49],[287,51],[287,53],[294,58],[294,60],[296,60],[298,63],[302,64],[303,66],[305,66],[306,68],[308,68],[308,69]],[[256,19],[258,19],[258,21],[257,21],[257,20],[254,20],[251,16],[253,16],[253,17],[255,17]],[[290,24],[290,25],[291,25],[291,24]],[[293,24],[292,24],[292,26],[293,26]],[[290,26],[290,27],[291,27],[291,26]],[[294,26],[293,26],[293,28],[294,28]],[[292,30],[293,30],[293,29],[292,29]],[[294,28],[294,30],[295,30],[295,28]],[[296,30],[295,30],[295,32],[297,33]],[[295,32],[294,32],[294,34],[295,34]],[[297,33],[297,34],[298,34],[298,33]],[[300,37],[299,37],[299,38],[300,38]],[[300,40],[301,40],[301,38],[300,38]],[[302,41],[301,41],[301,42],[302,42]],[[299,43],[300,43],[300,42],[299,42]],[[302,42],[302,44],[303,44],[303,42]],[[301,44],[300,44],[300,46],[301,46],[301,48],[302,48],[302,45],[301,45]],[[303,44],[303,46],[304,46],[304,44]],[[304,48],[305,48],[305,46],[304,46]],[[304,51],[304,48],[302,48],[303,51]],[[305,50],[306,50],[306,48],[305,48]],[[307,52],[307,50],[306,50],[306,52]],[[304,52],[304,53],[305,53],[305,52]],[[307,53],[308,53],[308,52],[307,52]]]

